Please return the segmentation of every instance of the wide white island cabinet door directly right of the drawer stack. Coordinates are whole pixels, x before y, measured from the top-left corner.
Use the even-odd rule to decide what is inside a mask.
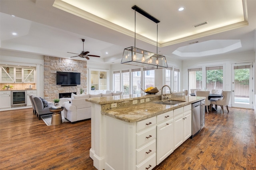
[[[173,152],[174,120],[170,119],[157,125],[157,146],[156,164],[160,164],[167,156]]]

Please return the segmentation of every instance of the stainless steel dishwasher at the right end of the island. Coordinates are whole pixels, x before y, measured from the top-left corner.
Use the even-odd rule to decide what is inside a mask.
[[[202,117],[201,117],[201,101],[191,105],[192,110],[192,136],[193,138],[201,130]]]

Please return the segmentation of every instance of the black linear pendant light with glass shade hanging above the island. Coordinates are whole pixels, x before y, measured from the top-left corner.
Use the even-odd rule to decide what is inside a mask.
[[[139,12],[146,18],[159,23],[160,21],[140,9],[138,6],[133,6],[134,10],[134,47],[124,49],[121,64],[130,64],[135,66],[150,67],[150,68],[167,68],[166,58],[163,55],[158,55],[158,24],[156,37],[156,54],[136,48],[136,12]]]

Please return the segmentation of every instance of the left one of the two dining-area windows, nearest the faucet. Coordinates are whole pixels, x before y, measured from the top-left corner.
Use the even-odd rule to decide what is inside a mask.
[[[202,89],[202,68],[188,69],[188,92],[190,89]]]

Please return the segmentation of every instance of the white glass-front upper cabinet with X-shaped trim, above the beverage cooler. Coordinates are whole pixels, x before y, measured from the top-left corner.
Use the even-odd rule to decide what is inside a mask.
[[[35,83],[35,68],[1,66],[0,83]]]

